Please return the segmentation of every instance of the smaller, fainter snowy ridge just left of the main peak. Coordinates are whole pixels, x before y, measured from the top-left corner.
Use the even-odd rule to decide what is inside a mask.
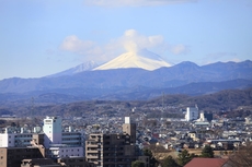
[[[79,73],[79,72],[82,72],[82,71],[91,71],[96,67],[98,67],[96,62],[88,61],[88,62],[81,63],[81,64],[79,64],[79,65],[77,65],[75,68],[65,70],[62,72],[59,72],[59,73],[56,73],[56,74],[53,74],[53,75],[49,75],[48,77],[56,77],[56,76],[62,76],[62,75],[72,75],[72,74],[76,74],[76,73]]]

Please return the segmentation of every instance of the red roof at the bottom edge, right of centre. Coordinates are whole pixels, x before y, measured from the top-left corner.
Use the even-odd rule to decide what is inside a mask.
[[[184,167],[222,167],[227,160],[224,158],[193,158]]]

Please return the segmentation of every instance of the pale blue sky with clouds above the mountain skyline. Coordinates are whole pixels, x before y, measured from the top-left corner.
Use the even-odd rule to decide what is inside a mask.
[[[0,80],[146,48],[170,63],[251,60],[251,0],[0,0]]]

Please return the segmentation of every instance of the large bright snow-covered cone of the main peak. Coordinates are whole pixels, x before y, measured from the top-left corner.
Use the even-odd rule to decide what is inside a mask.
[[[94,70],[140,68],[152,71],[162,67],[171,67],[171,64],[162,60],[158,55],[142,49],[137,52],[123,53]]]

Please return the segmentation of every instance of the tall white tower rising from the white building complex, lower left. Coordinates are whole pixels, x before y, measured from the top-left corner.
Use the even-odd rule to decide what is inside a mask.
[[[62,128],[61,118],[46,117],[44,119],[43,131],[45,133],[44,146],[49,147],[50,144],[61,144],[62,142]]]

